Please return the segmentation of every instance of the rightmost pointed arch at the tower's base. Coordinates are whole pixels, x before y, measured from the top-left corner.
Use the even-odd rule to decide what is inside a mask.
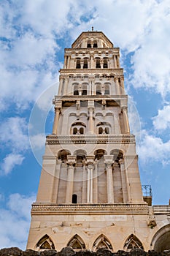
[[[144,246],[142,245],[142,242],[139,240],[139,238],[134,236],[134,234],[131,234],[126,239],[123,249],[126,252],[129,252],[131,249],[144,249]]]

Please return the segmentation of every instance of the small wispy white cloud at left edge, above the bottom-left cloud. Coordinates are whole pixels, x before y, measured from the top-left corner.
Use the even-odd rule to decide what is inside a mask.
[[[1,163],[1,174],[9,174],[16,165],[22,165],[24,157],[21,154],[8,154]]]

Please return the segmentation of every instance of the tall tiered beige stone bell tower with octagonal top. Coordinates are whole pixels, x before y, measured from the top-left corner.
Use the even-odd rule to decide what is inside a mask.
[[[119,57],[93,29],[65,49],[27,248],[150,248]]]

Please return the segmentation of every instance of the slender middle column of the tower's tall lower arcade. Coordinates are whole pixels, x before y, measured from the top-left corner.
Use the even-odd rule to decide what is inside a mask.
[[[86,164],[88,169],[87,203],[93,203],[93,159],[93,156],[86,157]]]

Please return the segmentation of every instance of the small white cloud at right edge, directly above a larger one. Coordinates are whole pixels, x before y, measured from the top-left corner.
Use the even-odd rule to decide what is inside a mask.
[[[170,128],[170,105],[166,105],[162,110],[158,110],[158,116],[152,118],[155,129],[164,130]]]

